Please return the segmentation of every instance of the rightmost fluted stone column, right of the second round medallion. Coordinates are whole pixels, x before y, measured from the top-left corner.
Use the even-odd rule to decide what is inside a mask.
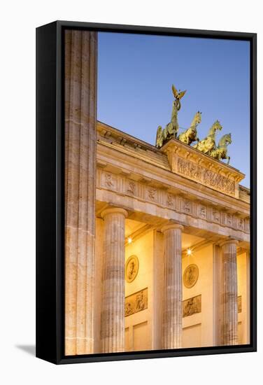
[[[235,239],[223,241],[222,247],[222,325],[221,344],[238,344],[237,268]]]

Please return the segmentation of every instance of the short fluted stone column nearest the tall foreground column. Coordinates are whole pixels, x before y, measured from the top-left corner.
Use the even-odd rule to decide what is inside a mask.
[[[111,208],[104,218],[104,282],[101,310],[102,351],[125,351],[125,218],[127,211]]]

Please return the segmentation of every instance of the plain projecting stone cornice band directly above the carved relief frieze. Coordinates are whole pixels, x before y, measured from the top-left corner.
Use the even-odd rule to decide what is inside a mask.
[[[165,190],[172,195],[218,207],[228,214],[239,213],[243,218],[250,216],[250,205],[247,202],[222,194],[169,170],[160,169],[104,143],[97,143],[97,166],[110,174],[124,176],[131,184],[133,182],[134,186],[136,183],[145,183],[149,188]]]

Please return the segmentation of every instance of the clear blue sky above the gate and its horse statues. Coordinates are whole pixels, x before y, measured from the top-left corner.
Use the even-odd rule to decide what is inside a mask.
[[[246,174],[249,187],[249,42],[176,36],[99,33],[98,120],[155,144],[158,125],[171,118],[171,85],[187,90],[180,127],[202,113],[204,139],[218,119],[232,133],[230,165]],[[180,130],[182,132],[183,130]]]

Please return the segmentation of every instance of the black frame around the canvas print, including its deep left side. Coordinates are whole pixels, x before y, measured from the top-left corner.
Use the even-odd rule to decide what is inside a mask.
[[[64,29],[250,42],[250,344],[64,355]],[[36,29],[36,356],[55,364],[134,360],[257,350],[257,35],[56,21]]]

